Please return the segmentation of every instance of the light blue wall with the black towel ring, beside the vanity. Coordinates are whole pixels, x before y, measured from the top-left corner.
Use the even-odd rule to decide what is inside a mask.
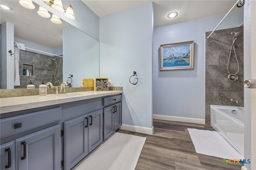
[[[125,125],[152,128],[152,12],[148,3],[100,18],[100,77],[123,87]]]

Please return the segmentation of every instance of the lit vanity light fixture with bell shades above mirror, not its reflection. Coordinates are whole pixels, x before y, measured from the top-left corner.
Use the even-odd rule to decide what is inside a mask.
[[[66,10],[62,7],[62,1],[61,0],[44,0],[44,3],[46,3],[48,6],[52,7],[54,10],[58,12],[65,12],[64,16],[70,20],[74,20],[74,10],[70,5],[66,7]]]

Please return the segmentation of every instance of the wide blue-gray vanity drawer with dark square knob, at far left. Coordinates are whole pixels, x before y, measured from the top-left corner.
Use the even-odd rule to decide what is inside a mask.
[[[60,120],[62,108],[47,109],[0,120],[1,138],[15,135]]]

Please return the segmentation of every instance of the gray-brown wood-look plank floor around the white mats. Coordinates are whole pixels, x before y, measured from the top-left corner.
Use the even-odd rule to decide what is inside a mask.
[[[244,164],[223,164],[222,158],[196,153],[187,128],[214,131],[210,125],[153,119],[154,134],[146,137],[136,170],[241,170]]]

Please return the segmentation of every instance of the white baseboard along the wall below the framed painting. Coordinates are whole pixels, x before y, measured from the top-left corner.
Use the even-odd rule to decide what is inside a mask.
[[[161,120],[171,120],[171,121],[181,121],[181,122],[188,122],[188,123],[205,124],[205,120],[204,119],[195,119],[195,118],[189,118],[189,117],[152,115],[152,118],[153,119],[161,119]]]

